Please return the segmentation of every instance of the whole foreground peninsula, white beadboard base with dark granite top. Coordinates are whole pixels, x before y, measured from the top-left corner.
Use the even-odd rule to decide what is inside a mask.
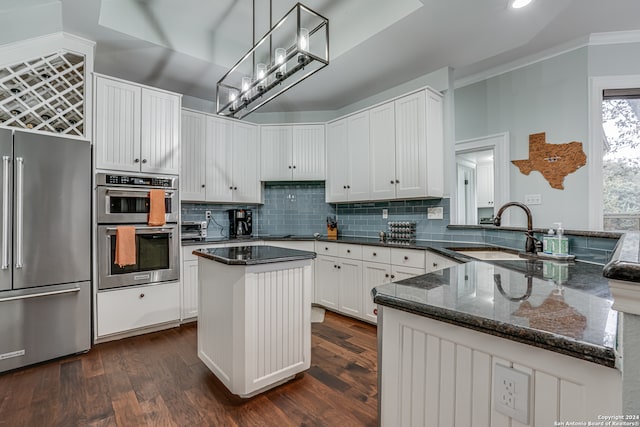
[[[602,266],[470,261],[372,293],[383,426],[546,426],[622,414],[618,316]],[[510,401],[518,415],[496,409],[499,365],[528,378]]]

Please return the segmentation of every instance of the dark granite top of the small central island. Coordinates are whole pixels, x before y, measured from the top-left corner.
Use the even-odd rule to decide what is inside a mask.
[[[299,251],[296,249],[278,248],[266,245],[201,249],[193,251],[193,254],[227,265],[271,264],[276,262],[313,259],[316,257],[315,252]]]

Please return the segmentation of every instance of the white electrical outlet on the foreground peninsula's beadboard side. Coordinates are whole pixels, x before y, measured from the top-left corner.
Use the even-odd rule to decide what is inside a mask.
[[[530,376],[496,364],[493,377],[493,407],[523,424],[529,424]]]

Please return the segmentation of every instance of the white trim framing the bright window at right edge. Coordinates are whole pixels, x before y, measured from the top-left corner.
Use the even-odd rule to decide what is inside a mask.
[[[602,230],[602,91],[640,87],[640,75],[591,77],[589,81],[589,218],[590,230]]]

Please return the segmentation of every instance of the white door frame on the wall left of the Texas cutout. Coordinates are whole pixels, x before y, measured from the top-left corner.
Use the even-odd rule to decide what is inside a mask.
[[[483,150],[493,150],[494,206],[495,209],[499,209],[500,206],[509,201],[509,132],[456,141],[454,155]],[[451,197],[451,224],[460,224],[457,210],[457,185],[452,185],[451,188],[453,188],[454,193],[453,197]],[[502,223],[509,225],[509,211],[506,211],[502,216]]]

